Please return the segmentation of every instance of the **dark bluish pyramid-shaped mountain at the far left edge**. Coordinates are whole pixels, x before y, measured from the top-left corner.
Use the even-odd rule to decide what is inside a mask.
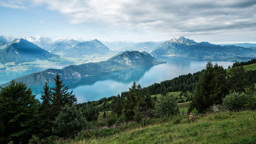
[[[58,57],[21,38],[14,40],[6,48],[0,50],[0,63],[15,62],[15,64],[19,64],[22,62],[45,60],[53,56]]]

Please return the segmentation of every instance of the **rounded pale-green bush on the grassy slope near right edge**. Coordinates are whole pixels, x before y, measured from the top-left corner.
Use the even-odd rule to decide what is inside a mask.
[[[228,110],[240,111],[244,108],[246,104],[246,94],[242,92],[239,94],[238,92],[233,92],[228,94],[222,102],[222,107]]]

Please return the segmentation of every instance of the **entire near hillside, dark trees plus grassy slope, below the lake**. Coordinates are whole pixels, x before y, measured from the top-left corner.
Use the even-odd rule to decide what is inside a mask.
[[[118,94],[82,104],[76,104],[75,95],[68,92],[68,86],[60,80],[61,75],[55,76],[54,87],[49,88],[47,83],[44,84],[42,102],[35,99],[26,84],[13,80],[0,90],[0,143],[78,143],[79,140],[83,143],[88,139],[113,134],[120,136],[119,140],[124,140],[127,137],[117,133],[128,130],[128,137],[134,138],[134,129],[138,132],[136,135],[143,140],[147,140],[144,136],[148,137],[146,135],[149,134],[157,142],[179,142],[180,139],[186,142],[208,138],[209,133],[211,136],[216,134],[214,132],[219,127],[222,131],[216,134],[218,139],[214,139],[214,142],[227,142],[230,139],[241,143],[252,142],[255,139],[252,131],[255,127],[254,112],[233,111],[256,110],[256,70],[244,69],[244,66],[250,66],[248,64],[253,61],[236,62],[228,71],[209,61],[206,68],[198,74],[183,75],[146,88],[134,82],[129,91],[122,92],[121,96]],[[189,111],[196,118],[188,119],[188,115],[180,114],[178,100],[167,90],[175,90],[176,84],[189,88],[186,85],[193,83],[195,89],[192,90],[194,96],[191,98]],[[160,86],[165,88],[160,89]],[[155,92],[156,89],[162,90],[162,94],[152,98],[150,92]],[[222,105],[219,107],[220,114],[208,114],[213,112],[214,104]],[[222,113],[225,111],[228,112]],[[105,112],[106,116],[98,120],[100,112]],[[165,123],[168,128],[164,127]],[[196,127],[196,130],[192,130],[191,126]],[[146,132],[148,130],[154,134]],[[166,135],[164,132],[164,135],[160,134],[161,139],[158,136],[159,130],[172,130],[172,134]],[[232,131],[236,131],[232,133],[234,135],[230,135]],[[116,140],[110,139],[109,142]],[[137,140],[135,137],[131,142]]]

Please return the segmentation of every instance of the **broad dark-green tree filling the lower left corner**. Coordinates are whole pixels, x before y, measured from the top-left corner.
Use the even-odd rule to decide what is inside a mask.
[[[0,131],[1,144],[13,141],[14,144],[28,143],[32,135],[37,135],[39,100],[32,90],[22,82],[12,80],[0,90]],[[39,129],[39,130],[38,130]]]

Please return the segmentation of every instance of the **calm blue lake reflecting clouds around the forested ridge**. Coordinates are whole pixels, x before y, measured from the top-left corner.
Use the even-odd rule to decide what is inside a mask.
[[[64,80],[63,82],[69,86],[70,91],[73,90],[73,94],[76,95],[78,103],[82,103],[121,94],[121,92],[128,91],[134,81],[142,87],[146,87],[164,80],[170,80],[182,74],[193,74],[194,72],[204,69],[207,63],[206,61],[184,60],[184,58],[180,57],[157,57],[157,59],[167,63],[147,68],[102,74],[99,76]],[[234,62],[213,62],[213,64],[215,63],[218,63],[218,65],[224,68],[228,68],[228,66],[231,66]],[[2,72],[0,73],[0,84],[4,84],[19,76],[38,71],[40,70]],[[54,86],[54,84],[49,85],[50,87]],[[30,87],[33,93],[37,94],[36,98],[38,99],[40,99],[42,87],[42,85]]]

